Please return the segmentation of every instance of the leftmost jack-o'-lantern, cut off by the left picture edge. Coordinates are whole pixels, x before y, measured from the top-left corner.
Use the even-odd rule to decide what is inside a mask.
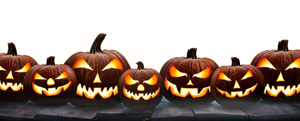
[[[2,102],[28,101],[23,91],[23,79],[32,66],[37,65],[28,55],[18,55],[14,43],[8,43],[8,52],[0,53],[0,100]]]

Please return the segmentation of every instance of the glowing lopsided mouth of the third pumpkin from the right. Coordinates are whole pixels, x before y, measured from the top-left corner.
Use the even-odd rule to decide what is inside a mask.
[[[198,92],[198,88],[181,88],[180,92],[177,89],[177,86],[173,83],[170,83],[166,77],[164,79],[164,86],[166,88],[166,90],[171,91],[171,93],[173,95],[179,96],[179,97],[186,97],[189,94],[193,97],[193,98],[197,98],[197,97],[202,97],[208,92],[210,93],[210,86],[208,87],[204,87],[200,92]]]

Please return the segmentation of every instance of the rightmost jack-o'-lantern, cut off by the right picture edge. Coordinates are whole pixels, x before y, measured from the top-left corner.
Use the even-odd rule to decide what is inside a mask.
[[[288,101],[300,95],[300,50],[289,50],[287,43],[279,41],[277,50],[262,51],[251,62],[266,80],[264,99]]]

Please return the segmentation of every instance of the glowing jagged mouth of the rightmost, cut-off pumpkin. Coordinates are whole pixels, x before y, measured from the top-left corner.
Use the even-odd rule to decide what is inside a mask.
[[[300,84],[298,84],[297,87],[296,85],[293,85],[292,88],[290,88],[290,85],[286,86],[286,88],[284,88],[284,86],[277,86],[277,89],[275,89],[274,86],[270,88],[270,85],[267,84],[264,94],[267,94],[267,92],[270,96],[273,97],[277,97],[280,92],[282,92],[285,96],[292,96],[293,94],[295,94],[295,92],[296,94],[300,92]]]

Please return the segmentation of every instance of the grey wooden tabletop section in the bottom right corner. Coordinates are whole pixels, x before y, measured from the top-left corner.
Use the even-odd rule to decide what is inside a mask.
[[[300,110],[284,102],[259,100],[249,107],[241,108],[251,120],[299,120]]]

